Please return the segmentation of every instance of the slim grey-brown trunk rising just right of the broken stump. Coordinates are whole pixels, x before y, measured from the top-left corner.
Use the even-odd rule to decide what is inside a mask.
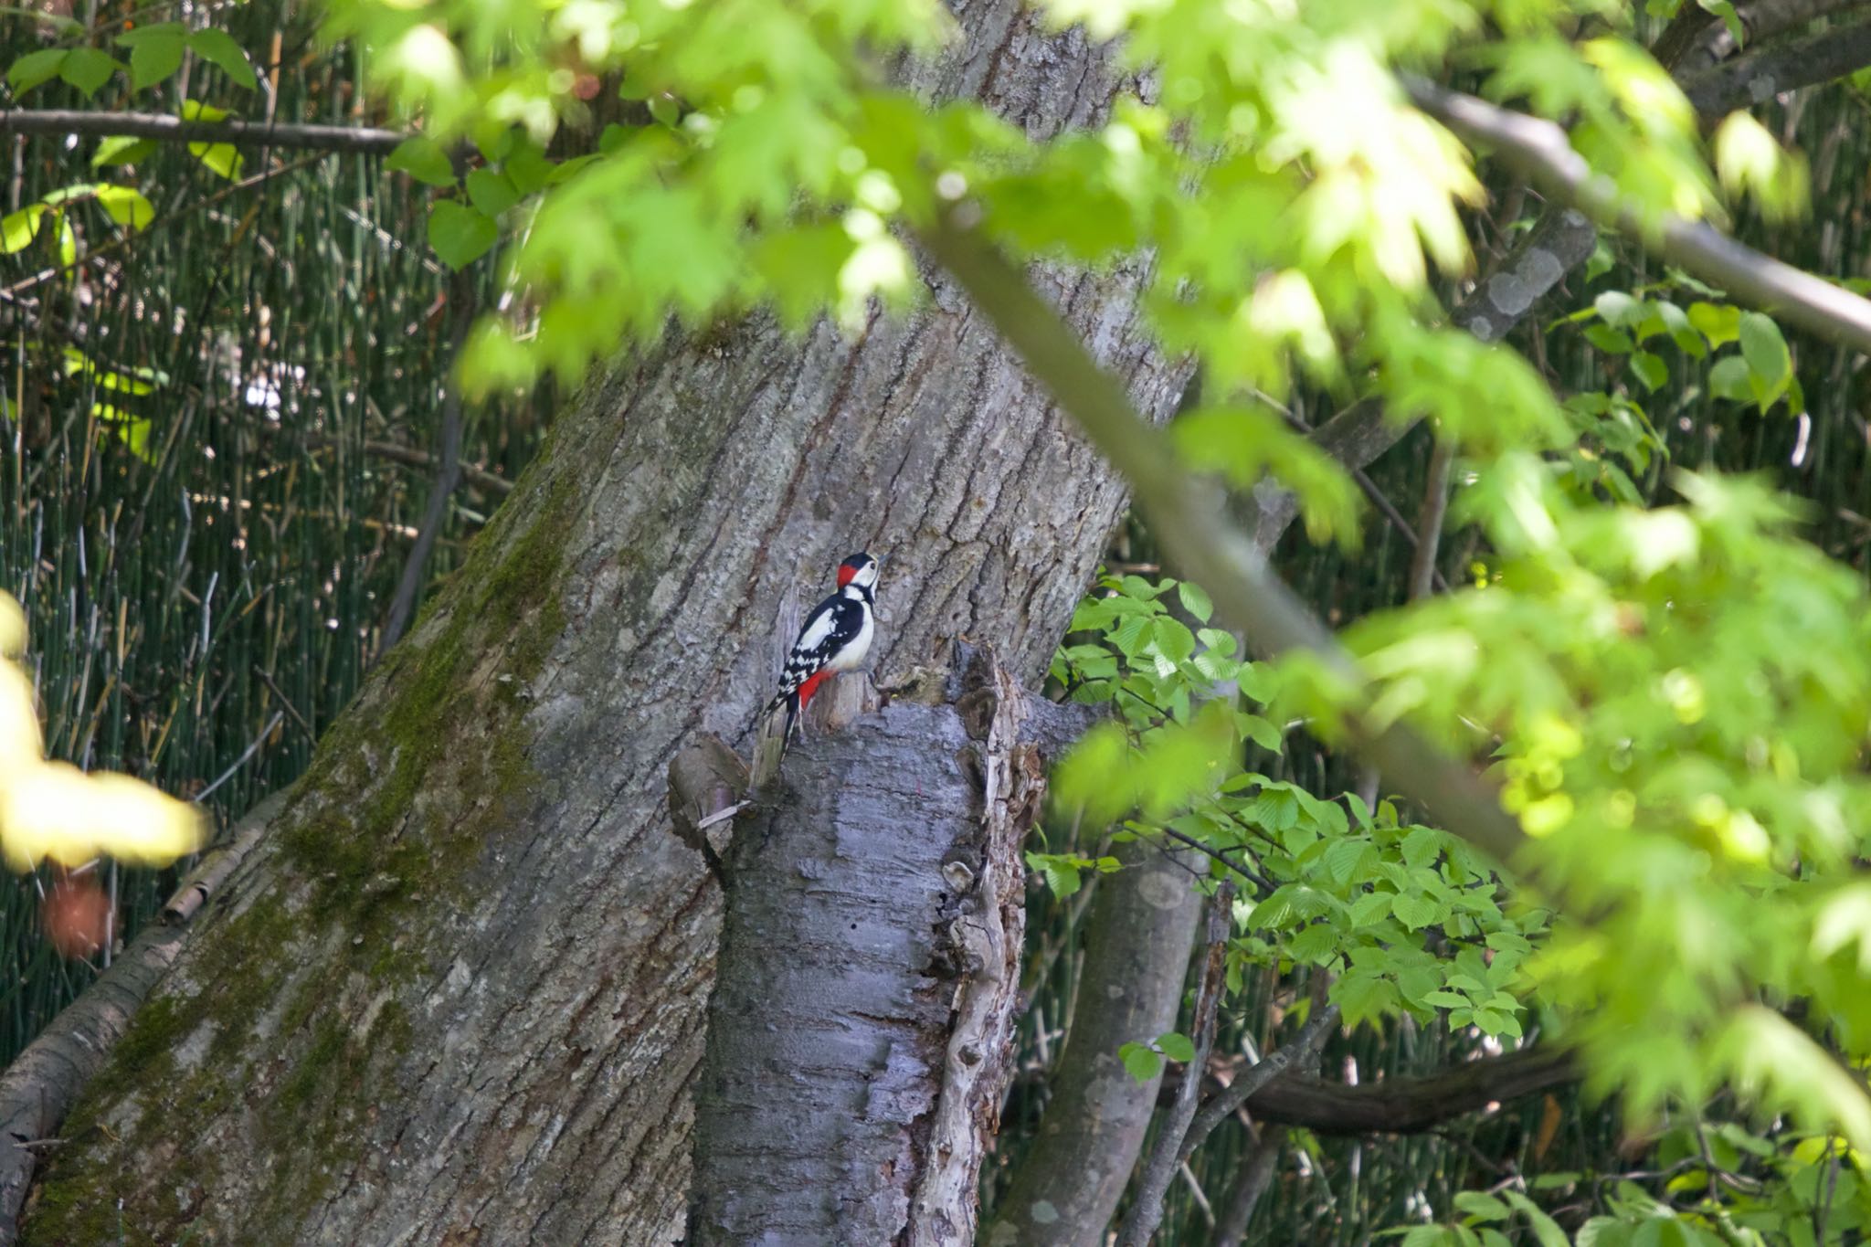
[[[1138,1082],[1117,1058],[1175,1028],[1201,894],[1182,854],[1121,845],[1098,881],[1072,1034],[1053,1071],[1038,1139],[982,1226],[988,1247],[1102,1243],[1156,1111],[1158,1073]]]

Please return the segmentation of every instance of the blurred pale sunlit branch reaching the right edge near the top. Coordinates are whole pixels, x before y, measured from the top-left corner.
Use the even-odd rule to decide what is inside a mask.
[[[1645,249],[1680,265],[1691,277],[1721,286],[1736,303],[1774,312],[1828,342],[1871,353],[1871,301],[1791,264],[1736,243],[1706,224],[1667,213],[1646,215],[1611,179],[1594,174],[1553,122],[1508,112],[1422,79],[1405,82],[1416,107],[1452,129],[1469,146],[1487,146],[1519,170],[1547,198],[1592,221],[1626,230]]]

